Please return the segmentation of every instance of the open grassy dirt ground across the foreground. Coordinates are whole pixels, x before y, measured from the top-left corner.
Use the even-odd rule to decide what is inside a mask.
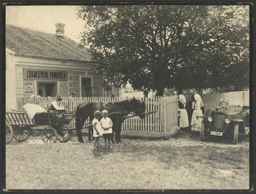
[[[85,137],[84,137],[85,138]],[[164,140],[124,138],[113,150],[40,137],[6,146],[6,189],[248,189],[249,138],[200,142],[180,131]]]

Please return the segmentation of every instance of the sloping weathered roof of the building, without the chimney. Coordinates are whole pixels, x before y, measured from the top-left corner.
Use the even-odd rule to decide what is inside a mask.
[[[17,26],[6,25],[6,48],[24,56],[90,61],[89,52],[67,36]]]

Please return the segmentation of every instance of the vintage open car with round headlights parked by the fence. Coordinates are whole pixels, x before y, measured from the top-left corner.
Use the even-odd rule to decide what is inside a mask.
[[[243,105],[230,105],[223,101],[216,111],[207,110],[202,119],[200,138],[224,137],[237,144],[238,134],[249,133],[250,126],[249,107]]]

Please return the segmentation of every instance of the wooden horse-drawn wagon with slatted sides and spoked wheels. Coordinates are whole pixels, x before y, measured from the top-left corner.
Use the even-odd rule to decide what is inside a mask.
[[[28,140],[32,130],[42,130],[41,138],[44,143],[67,142],[69,133],[75,128],[68,128],[68,124],[75,114],[44,112],[30,119],[27,112],[6,112],[6,144],[12,139],[19,142]],[[39,128],[38,128],[39,127]]]

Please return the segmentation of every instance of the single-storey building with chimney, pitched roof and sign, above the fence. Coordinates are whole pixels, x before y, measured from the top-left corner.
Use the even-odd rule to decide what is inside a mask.
[[[92,71],[90,54],[64,36],[6,25],[6,110],[16,108],[17,97],[118,96],[118,88],[102,86],[102,75]]]

